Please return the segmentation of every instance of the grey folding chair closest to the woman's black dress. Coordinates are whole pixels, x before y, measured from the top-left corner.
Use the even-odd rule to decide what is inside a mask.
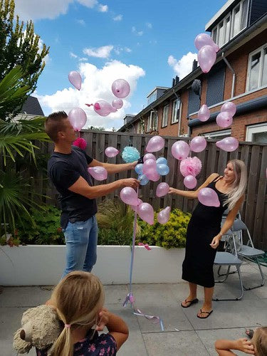
[[[216,252],[215,260],[214,260],[214,265],[219,266],[219,269],[221,266],[227,266],[227,271],[224,273],[224,275],[219,276],[224,276],[223,279],[215,281],[216,283],[223,283],[226,281],[230,274],[230,268],[231,266],[236,267],[236,271],[239,274],[239,286],[240,286],[240,295],[237,296],[236,298],[224,298],[224,299],[219,299],[219,298],[214,298],[216,301],[220,300],[241,300],[244,296],[244,286],[243,286],[243,281],[242,281],[242,276],[241,276],[241,271],[240,271],[240,266],[242,264],[242,260],[237,256],[237,251],[236,251],[236,241],[234,240],[234,236],[231,230],[227,231],[226,235],[228,235],[228,239],[233,239],[233,246],[234,246],[234,251],[228,252]]]

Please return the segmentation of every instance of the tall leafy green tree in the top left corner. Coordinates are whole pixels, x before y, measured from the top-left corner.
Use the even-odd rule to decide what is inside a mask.
[[[40,49],[40,36],[34,33],[32,21],[27,21],[26,26],[19,21],[19,16],[14,19],[14,0],[0,0],[0,80],[12,68],[21,66],[21,85],[28,86],[28,94],[33,93],[39,75],[46,63],[43,58],[48,54],[49,48],[43,44]],[[27,95],[9,100],[5,108],[0,108],[0,117],[6,119],[6,112],[19,112]]]

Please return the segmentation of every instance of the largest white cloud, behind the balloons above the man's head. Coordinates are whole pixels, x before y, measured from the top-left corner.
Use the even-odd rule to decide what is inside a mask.
[[[83,77],[80,91],[74,88],[65,88],[58,90],[53,95],[36,95],[46,114],[58,110],[69,112],[72,108],[78,107],[85,110],[88,116],[86,127],[97,126],[106,129],[121,127],[125,113],[130,112],[130,96],[136,90],[138,79],[145,75],[145,70],[134,65],[127,66],[120,61],[105,63],[103,68],[97,68],[91,63],[80,63],[78,70]],[[131,87],[130,95],[123,99],[124,105],[120,110],[102,117],[96,114],[92,107],[88,108],[85,105],[85,103],[95,103],[97,100],[106,100],[108,103],[112,103],[115,96],[112,94],[111,85],[118,78],[127,80]]]

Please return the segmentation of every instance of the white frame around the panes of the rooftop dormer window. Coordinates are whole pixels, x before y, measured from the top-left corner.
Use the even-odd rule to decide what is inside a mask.
[[[248,26],[248,7],[249,6],[247,6],[247,9],[246,9],[246,26],[244,28],[241,28],[242,12],[243,12],[243,6],[244,6],[245,1],[249,1],[249,0],[241,0],[239,2],[239,4],[236,4],[234,9],[229,11],[229,13],[227,13],[226,16],[224,16],[224,19],[222,19],[214,28],[212,28],[211,38],[213,38],[214,42],[217,43],[218,46],[220,46],[220,47],[224,46],[227,42],[229,42],[232,38],[237,36],[241,31],[244,30],[244,28],[246,28]],[[240,6],[239,31],[234,35],[234,33],[233,33],[234,32],[234,11],[236,10],[236,8],[238,6]],[[229,16],[230,16],[230,31],[229,31],[229,38],[226,38],[226,19],[228,19]],[[219,26],[221,25],[221,23],[224,23],[224,25],[222,27],[223,31],[224,31],[223,43],[219,43]],[[214,36],[215,31],[216,31],[216,36]]]

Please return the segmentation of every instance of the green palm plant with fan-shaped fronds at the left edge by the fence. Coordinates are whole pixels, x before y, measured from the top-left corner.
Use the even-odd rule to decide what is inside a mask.
[[[30,88],[21,85],[22,70],[18,66],[12,69],[0,82],[0,108],[8,108],[11,100],[21,98]],[[34,224],[28,209],[38,206],[36,192],[32,192],[25,170],[30,161],[36,162],[38,146],[33,142],[46,142],[48,136],[43,130],[44,117],[17,119],[8,116],[0,118],[0,236],[14,232],[16,219],[21,212],[28,214],[28,219]],[[16,164],[18,157],[25,159],[24,164]],[[9,227],[8,227],[9,226]]]

